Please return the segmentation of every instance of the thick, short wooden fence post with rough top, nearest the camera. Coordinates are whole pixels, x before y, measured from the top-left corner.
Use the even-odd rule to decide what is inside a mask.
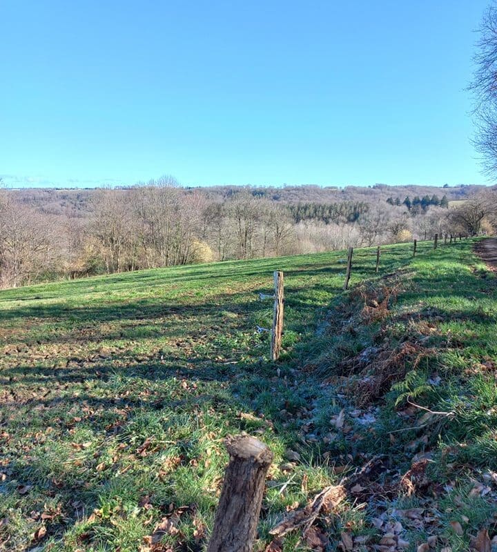
[[[252,552],[273,453],[249,435],[226,440],[226,449],[230,462],[207,552]]]

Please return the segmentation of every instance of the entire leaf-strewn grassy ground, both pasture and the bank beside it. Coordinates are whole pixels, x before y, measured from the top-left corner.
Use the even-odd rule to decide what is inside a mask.
[[[496,279],[470,240],[432,247],[414,260],[409,244],[385,247],[378,276],[375,250],[357,250],[345,294],[344,252],[1,292],[3,549],[201,551],[223,439],[246,431],[275,453],[258,549],[380,452],[389,465],[320,517],[321,548],[295,532],[273,550],[333,550],[347,535],[369,550],[390,533],[405,549],[438,535],[467,550],[496,523]],[[257,293],[275,269],[285,352],[272,364],[255,329],[271,325]],[[409,475],[409,491],[413,457],[426,484]]]

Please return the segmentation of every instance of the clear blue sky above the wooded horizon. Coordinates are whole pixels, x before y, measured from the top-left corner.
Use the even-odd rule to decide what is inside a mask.
[[[476,184],[485,0],[1,0],[12,186]]]

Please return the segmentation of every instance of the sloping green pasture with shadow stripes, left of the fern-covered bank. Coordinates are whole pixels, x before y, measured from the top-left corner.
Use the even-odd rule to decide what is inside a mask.
[[[416,262],[469,255],[465,242],[451,253],[432,247],[420,244]],[[355,252],[351,286],[411,270],[410,244],[382,251],[378,276],[376,250]],[[267,540],[288,509],[340,477],[335,464],[358,458],[347,438],[327,437],[340,403],[320,391],[318,372],[299,370],[306,344],[325,343],[316,332],[342,294],[345,260],[344,252],[255,259],[1,292],[4,548],[201,550],[227,461],[223,439],[242,431],[275,453],[260,526]],[[269,335],[255,331],[271,326],[272,302],[257,294],[272,293],[276,269],[286,292],[277,365]],[[451,285],[431,268],[423,277]],[[347,516],[355,511],[340,524]],[[174,529],[157,529],[164,517]]]

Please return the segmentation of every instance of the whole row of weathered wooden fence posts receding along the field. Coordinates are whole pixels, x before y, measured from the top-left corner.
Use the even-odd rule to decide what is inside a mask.
[[[467,237],[467,236],[465,236]],[[447,244],[447,234],[444,243]],[[456,237],[450,235],[450,243]],[[459,239],[462,235],[459,234]],[[426,235],[425,235],[426,240]],[[433,249],[438,247],[438,234],[433,240]],[[418,240],[413,242],[413,257],[416,257]],[[376,248],[375,272],[380,268],[381,248]],[[353,248],[347,254],[344,290],[349,288],[352,273]],[[274,299],[273,328],[271,330],[271,360],[280,357],[284,315],[283,273],[275,270],[274,295],[260,293],[260,299]],[[264,330],[264,328],[260,328]],[[273,461],[268,446],[255,437],[237,435],[226,440],[230,460],[224,473],[224,483],[215,514],[211,540],[207,552],[252,552],[257,531],[266,475]]]

